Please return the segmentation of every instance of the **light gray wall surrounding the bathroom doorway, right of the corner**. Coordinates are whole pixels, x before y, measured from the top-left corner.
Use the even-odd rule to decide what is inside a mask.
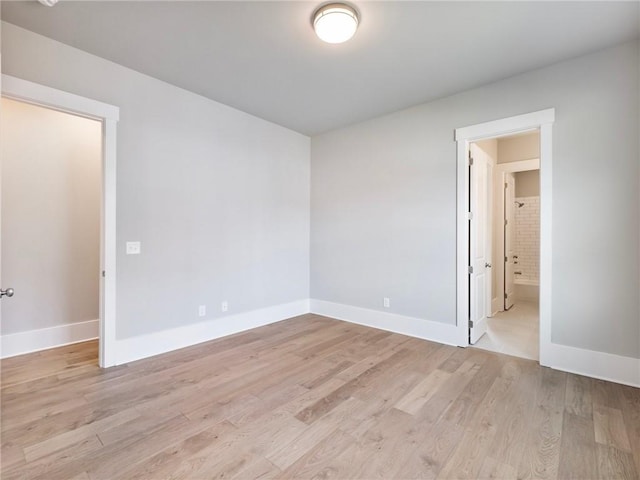
[[[555,107],[552,341],[640,357],[638,42],[312,138],[311,296],[455,323],[457,127]],[[581,212],[588,215],[578,215]]]

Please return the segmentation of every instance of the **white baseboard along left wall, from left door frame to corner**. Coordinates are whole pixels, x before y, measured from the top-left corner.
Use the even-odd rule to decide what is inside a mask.
[[[208,342],[305,313],[309,313],[308,299],[116,340],[116,365]]]

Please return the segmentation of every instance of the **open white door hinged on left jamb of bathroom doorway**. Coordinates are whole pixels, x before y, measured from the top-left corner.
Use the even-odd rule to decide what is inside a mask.
[[[476,343],[487,331],[487,313],[491,310],[491,175],[488,155],[475,143],[470,144],[473,159],[469,181],[469,343]]]

